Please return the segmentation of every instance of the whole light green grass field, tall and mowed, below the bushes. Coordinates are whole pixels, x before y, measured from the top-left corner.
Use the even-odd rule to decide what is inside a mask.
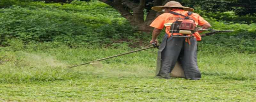
[[[102,61],[102,68],[84,65],[69,69],[69,65],[134,49],[122,44],[118,48],[49,45],[24,46],[15,42],[9,47],[1,47],[1,101],[256,100],[256,54],[230,52],[211,45],[199,46],[198,66],[202,79],[165,80],[154,78],[157,49]]]

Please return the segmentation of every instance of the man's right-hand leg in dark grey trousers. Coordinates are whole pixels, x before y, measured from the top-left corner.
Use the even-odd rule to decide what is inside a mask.
[[[194,38],[189,40],[190,45],[187,42],[183,45],[179,61],[184,69],[186,79],[198,80],[201,78],[201,73],[197,66],[197,41]]]

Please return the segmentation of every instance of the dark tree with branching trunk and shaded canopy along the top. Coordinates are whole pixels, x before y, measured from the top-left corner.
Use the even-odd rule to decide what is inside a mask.
[[[0,7],[8,6],[13,0],[3,0]],[[74,0],[18,0],[18,1],[44,1],[45,3],[71,3]],[[90,1],[90,0],[79,0]],[[178,1],[183,6],[194,8],[196,11],[206,13],[219,13],[234,11],[236,15],[251,15],[255,17],[255,0],[98,0],[116,9],[132,25],[136,25],[139,31],[151,32],[152,28],[148,25],[155,19],[156,11],[151,10],[153,6],[164,5],[168,1]],[[11,3],[12,4],[12,3]],[[250,22],[246,21],[247,23]]]

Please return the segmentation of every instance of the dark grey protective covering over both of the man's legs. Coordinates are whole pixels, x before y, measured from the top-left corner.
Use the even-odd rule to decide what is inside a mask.
[[[201,73],[197,66],[197,41],[190,38],[190,45],[185,42],[185,38],[168,38],[164,36],[159,47],[156,64],[156,76],[170,78],[170,73],[179,61],[184,70],[186,79],[198,80]]]

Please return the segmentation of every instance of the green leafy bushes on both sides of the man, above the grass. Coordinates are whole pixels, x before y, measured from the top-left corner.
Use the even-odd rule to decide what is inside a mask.
[[[203,38],[202,43],[226,47],[232,45],[232,48],[239,52],[255,53],[255,24],[236,23],[232,19],[238,17],[232,12],[220,14],[205,13],[200,10],[196,12],[204,15],[214,29],[235,30],[233,33]],[[151,38],[150,34],[135,32],[129,22],[117,11],[97,1],[89,3],[73,1],[65,5],[42,2],[20,3],[18,6],[0,9],[0,14],[2,46],[10,45],[11,38],[19,38],[24,43],[55,41],[66,43],[70,47],[118,47],[119,44],[116,43],[136,47],[148,45]],[[222,14],[223,16],[220,16]],[[217,17],[219,18],[214,19]],[[227,20],[222,23],[221,19]],[[164,32],[159,36],[160,41],[163,34]]]

